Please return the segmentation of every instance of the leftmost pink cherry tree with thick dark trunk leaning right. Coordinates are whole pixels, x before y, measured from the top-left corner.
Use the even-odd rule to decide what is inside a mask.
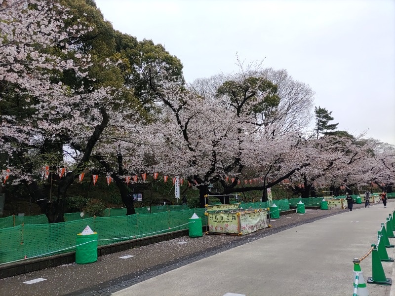
[[[10,167],[13,182],[27,185],[49,222],[61,222],[67,189],[87,166],[113,113],[125,105],[128,91],[84,86],[90,57],[68,41],[91,29],[83,23],[66,27],[71,16],[57,1],[6,1],[0,14],[2,152],[18,159]],[[103,64],[103,69],[111,67]],[[73,74],[73,83],[62,82],[65,73]],[[14,112],[14,106],[26,112]],[[51,200],[40,190],[37,176],[42,156],[53,144],[60,147],[58,156],[63,157],[64,147],[80,148],[80,153],[72,170],[59,178]],[[63,161],[58,157],[56,162],[59,167]]]

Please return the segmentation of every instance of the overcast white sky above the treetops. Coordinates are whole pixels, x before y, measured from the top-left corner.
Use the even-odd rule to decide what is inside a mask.
[[[115,29],[161,43],[187,82],[246,62],[286,69],[338,129],[395,145],[395,0],[95,0]]]

